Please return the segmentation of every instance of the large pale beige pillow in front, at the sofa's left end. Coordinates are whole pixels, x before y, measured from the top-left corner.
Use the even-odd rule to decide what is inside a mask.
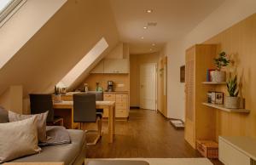
[[[41,151],[38,147],[37,117],[0,123],[0,163]]]

